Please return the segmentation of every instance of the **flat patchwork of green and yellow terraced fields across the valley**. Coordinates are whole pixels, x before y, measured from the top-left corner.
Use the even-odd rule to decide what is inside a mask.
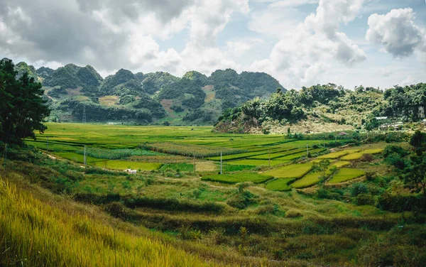
[[[334,140],[293,140],[285,136],[254,136],[212,133],[209,127],[117,126],[87,124],[48,124],[49,130],[29,144],[58,156],[83,163],[84,146],[87,164],[110,170],[126,168],[140,171],[204,173],[202,180],[223,183],[254,182],[268,190],[289,190],[315,185],[317,174],[310,173],[312,161],[336,160],[332,166],[342,168],[329,183],[342,182],[362,175],[356,169],[343,168],[348,160],[364,153],[380,153],[379,148],[347,148],[327,153]],[[310,156],[326,153],[305,163]],[[217,175],[222,152],[224,175]],[[348,160],[344,160],[345,157]],[[271,160],[269,160],[271,158]],[[340,158],[340,160],[339,160]],[[207,159],[207,160],[205,160]],[[261,173],[257,173],[260,168]],[[268,168],[270,168],[268,170]],[[271,180],[274,179],[274,180]]]

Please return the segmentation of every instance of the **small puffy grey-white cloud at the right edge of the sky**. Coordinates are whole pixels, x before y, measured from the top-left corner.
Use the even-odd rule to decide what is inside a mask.
[[[395,58],[405,58],[415,51],[426,53],[425,31],[414,23],[413,9],[393,9],[386,15],[368,18],[366,40],[381,45]]]

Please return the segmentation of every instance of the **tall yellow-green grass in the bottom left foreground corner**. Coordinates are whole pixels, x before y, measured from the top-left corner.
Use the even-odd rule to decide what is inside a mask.
[[[0,185],[1,266],[214,266]],[[75,210],[73,211],[75,212]]]

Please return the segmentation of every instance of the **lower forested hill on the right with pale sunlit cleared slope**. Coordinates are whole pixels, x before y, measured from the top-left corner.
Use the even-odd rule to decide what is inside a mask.
[[[287,93],[275,92],[266,100],[253,99],[228,109],[215,131],[235,133],[293,133],[377,129],[381,124],[412,123],[425,118],[426,84],[380,90],[337,85],[315,85]],[[376,117],[387,117],[377,120]]]

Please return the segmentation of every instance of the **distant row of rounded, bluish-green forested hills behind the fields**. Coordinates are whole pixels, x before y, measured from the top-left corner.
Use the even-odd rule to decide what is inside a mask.
[[[216,70],[209,77],[187,72],[175,77],[168,72],[133,73],[121,69],[102,78],[94,67],[68,64],[38,70],[25,62],[15,66],[18,75],[40,81],[52,109],[50,121],[124,124],[214,124],[222,111],[254,97],[269,97],[284,87],[262,72]]]

